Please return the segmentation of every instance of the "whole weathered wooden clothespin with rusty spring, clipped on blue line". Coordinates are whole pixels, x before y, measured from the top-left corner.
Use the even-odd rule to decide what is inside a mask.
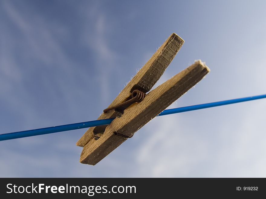
[[[98,119],[115,118],[111,124],[91,127],[79,139],[76,145],[83,147],[81,163],[97,164],[210,71],[202,61],[198,60],[149,92],[183,43],[184,40],[177,34],[170,35],[99,116]]]

